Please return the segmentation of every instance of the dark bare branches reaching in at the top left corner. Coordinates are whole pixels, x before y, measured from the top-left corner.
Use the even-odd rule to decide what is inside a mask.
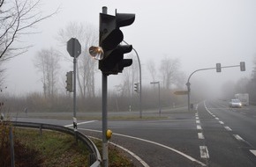
[[[41,0],[0,0],[0,59],[11,59],[23,54],[31,46],[13,47],[20,36],[27,35],[31,28],[56,12],[42,16],[38,10]],[[21,42],[20,42],[21,43]]]

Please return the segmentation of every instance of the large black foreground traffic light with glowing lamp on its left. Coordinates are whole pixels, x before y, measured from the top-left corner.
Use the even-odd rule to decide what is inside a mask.
[[[132,51],[132,45],[120,45],[124,40],[124,35],[119,28],[132,25],[134,19],[135,14],[117,13],[116,11],[116,16],[112,16],[100,13],[100,47],[97,49],[90,47],[90,53],[100,57],[99,69],[103,74],[117,75],[125,67],[132,65],[132,59],[124,59],[124,54]]]

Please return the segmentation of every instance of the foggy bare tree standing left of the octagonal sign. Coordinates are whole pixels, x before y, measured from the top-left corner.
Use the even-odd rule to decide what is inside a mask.
[[[60,69],[59,55],[53,48],[41,49],[34,59],[35,68],[42,74],[44,96],[50,100],[53,100],[56,95],[57,74]]]

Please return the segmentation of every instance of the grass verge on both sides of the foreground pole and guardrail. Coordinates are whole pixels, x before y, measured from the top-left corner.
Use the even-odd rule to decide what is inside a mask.
[[[76,143],[72,135],[53,131],[42,131],[40,135],[38,130],[15,128],[14,138],[22,146],[15,149],[15,154],[26,156],[19,157],[16,166],[89,166],[87,147],[82,142]],[[102,153],[102,142],[94,143]],[[120,149],[109,145],[109,167],[114,166],[134,167]]]

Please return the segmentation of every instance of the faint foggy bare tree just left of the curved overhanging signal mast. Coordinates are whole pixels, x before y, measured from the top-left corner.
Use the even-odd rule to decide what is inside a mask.
[[[169,89],[172,84],[177,84],[180,72],[180,62],[178,59],[164,58],[161,61],[160,76],[165,89]]]

